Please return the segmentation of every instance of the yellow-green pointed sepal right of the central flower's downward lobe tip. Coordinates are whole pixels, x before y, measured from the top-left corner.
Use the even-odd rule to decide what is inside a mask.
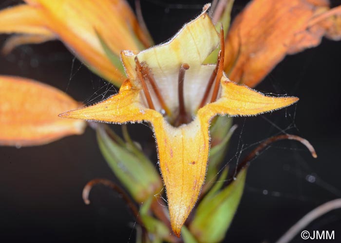
[[[246,168],[226,188],[208,193],[198,205],[190,232],[200,243],[216,243],[224,239],[243,194]]]

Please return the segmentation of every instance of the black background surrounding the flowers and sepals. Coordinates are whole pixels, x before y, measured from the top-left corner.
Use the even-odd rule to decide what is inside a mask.
[[[5,1],[0,8],[17,2]],[[233,16],[246,2],[236,1]],[[141,3],[152,36],[160,43],[199,14],[207,1]],[[0,43],[6,37],[0,35]],[[48,83],[87,104],[100,100],[108,89],[108,94],[114,93],[114,88],[81,65],[58,41],[22,46],[0,56],[0,74]],[[281,141],[254,160],[226,242],[274,242],[305,213],[341,197],[340,81],[341,42],[323,39],[317,48],[285,57],[257,87],[265,93],[298,96],[300,101],[273,113],[235,119],[239,128],[226,162],[235,164],[241,148],[281,129],[308,139],[319,157],[313,159],[298,142]],[[129,128],[133,138],[146,146],[152,135],[148,127]],[[96,187],[90,195],[92,204],[83,203],[83,186],[97,177],[116,181],[91,128],[82,136],[40,147],[0,147],[0,242],[133,243],[134,218],[113,191]],[[307,227],[310,231],[323,229],[336,230],[335,242],[341,242],[341,210]],[[298,236],[295,242],[303,240]]]

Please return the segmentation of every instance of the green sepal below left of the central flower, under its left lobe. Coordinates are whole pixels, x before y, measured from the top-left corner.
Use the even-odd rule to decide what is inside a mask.
[[[96,132],[102,155],[136,202],[144,202],[162,189],[159,173],[142,152],[129,149],[106,125],[98,125]]]

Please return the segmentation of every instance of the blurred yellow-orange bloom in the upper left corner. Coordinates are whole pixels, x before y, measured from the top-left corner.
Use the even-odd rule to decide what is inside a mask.
[[[3,52],[21,44],[60,39],[90,69],[120,86],[125,79],[103,49],[107,45],[119,63],[121,50],[151,45],[125,0],[25,0],[0,11],[0,33],[15,33]]]

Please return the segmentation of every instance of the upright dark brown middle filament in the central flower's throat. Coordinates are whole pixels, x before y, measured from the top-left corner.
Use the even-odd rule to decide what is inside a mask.
[[[185,72],[188,69],[189,69],[189,65],[187,63],[183,63],[179,70],[179,76],[178,76],[179,115],[175,121],[176,126],[181,125],[181,124],[186,124],[190,121],[186,113],[185,100],[184,100]]]

